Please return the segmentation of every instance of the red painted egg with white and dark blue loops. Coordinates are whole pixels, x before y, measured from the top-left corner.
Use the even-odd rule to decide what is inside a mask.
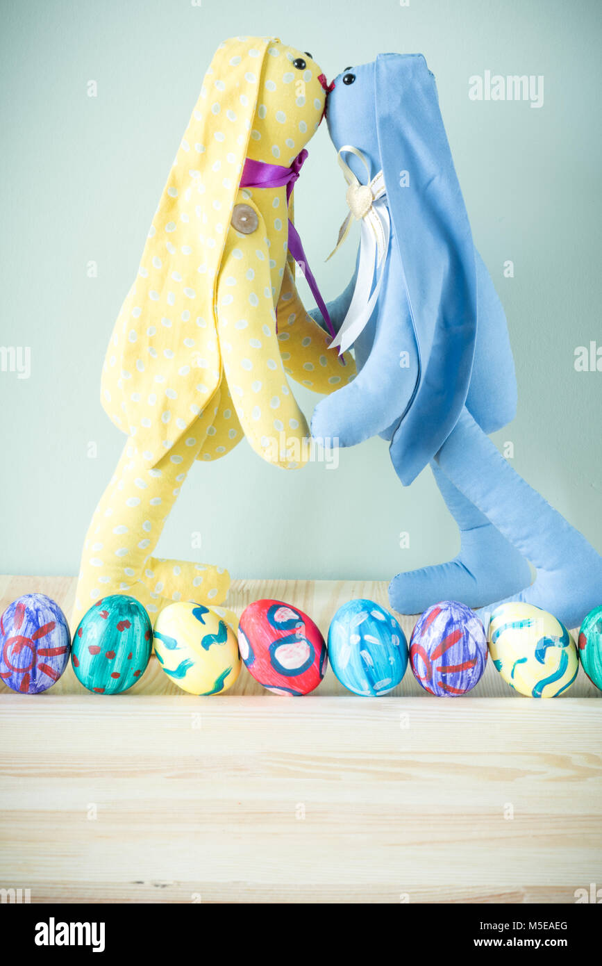
[[[275,695],[308,695],[328,665],[319,628],[283,601],[255,601],[242,611],[238,647],[256,681]]]

